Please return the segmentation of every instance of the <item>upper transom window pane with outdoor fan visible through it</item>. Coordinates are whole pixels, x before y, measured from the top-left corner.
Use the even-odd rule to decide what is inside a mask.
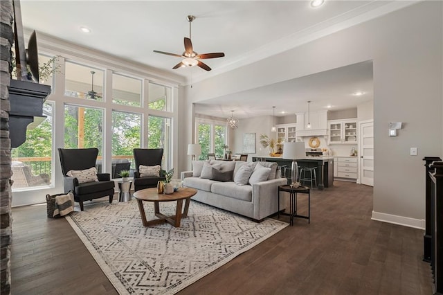
[[[72,62],[66,62],[65,71],[65,96],[103,100],[103,71]]]

